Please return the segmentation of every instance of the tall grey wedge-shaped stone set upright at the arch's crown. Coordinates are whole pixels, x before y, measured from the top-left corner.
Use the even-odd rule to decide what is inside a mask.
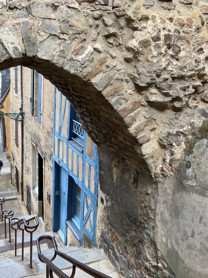
[[[28,57],[37,55],[37,37],[35,35],[37,29],[35,28],[35,25],[25,21],[22,24],[21,32],[26,55]]]

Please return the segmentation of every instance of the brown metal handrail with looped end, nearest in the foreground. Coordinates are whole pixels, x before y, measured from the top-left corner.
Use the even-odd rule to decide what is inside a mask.
[[[49,260],[47,257],[45,257],[43,254],[41,254],[41,250],[40,250],[40,240],[42,239],[49,239],[53,242],[53,247],[54,247],[54,256],[51,260]],[[58,251],[57,248],[57,244],[56,241],[54,240],[54,238],[52,236],[49,235],[43,235],[37,238],[37,251],[38,251],[38,257],[39,260],[42,263],[46,264],[46,278],[49,278],[49,271],[50,271],[50,277],[53,278],[53,272],[59,277],[59,278],[73,278],[75,275],[75,271],[76,271],[76,267],[78,267],[79,269],[81,269],[82,271],[88,273],[89,275],[91,275],[92,277],[95,278],[111,278],[110,276],[103,274],[100,271],[97,271],[91,267],[89,267],[88,265],[85,265],[84,263],[81,263],[77,260],[75,260],[74,258]],[[58,267],[56,267],[52,261],[56,258],[56,255],[58,255],[59,257],[63,258],[64,260],[67,260],[69,263],[71,263],[73,265],[73,269],[72,269],[72,274],[71,276],[67,276],[63,271],[61,271]]]

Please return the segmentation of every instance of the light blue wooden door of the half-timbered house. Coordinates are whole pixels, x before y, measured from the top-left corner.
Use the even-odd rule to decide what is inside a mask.
[[[67,217],[67,184],[68,173],[63,167],[60,167],[60,179],[59,179],[59,235],[66,245],[66,217]]]

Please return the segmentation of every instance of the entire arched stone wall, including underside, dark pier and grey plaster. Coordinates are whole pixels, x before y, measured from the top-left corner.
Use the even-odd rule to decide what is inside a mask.
[[[0,68],[37,69],[97,145],[99,246],[117,270],[206,277],[207,1],[0,7]]]

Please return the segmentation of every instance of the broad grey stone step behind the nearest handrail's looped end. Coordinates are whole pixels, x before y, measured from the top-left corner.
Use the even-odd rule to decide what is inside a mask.
[[[86,249],[86,248],[78,248],[72,249],[69,246],[60,247],[59,251],[63,251],[65,254],[73,257],[74,259],[82,262],[82,263],[92,263],[99,260],[106,259],[104,251],[102,249]],[[53,257],[53,249],[43,250],[42,254],[46,257]],[[71,268],[72,264],[67,262],[66,260],[57,256],[53,263],[60,269]],[[41,273],[45,273],[45,264],[41,263],[38,259],[37,252],[33,253],[33,268],[29,268],[29,254],[25,255],[24,262],[19,262],[18,258],[14,257],[8,260],[2,259],[0,260],[1,265],[1,278],[22,278],[28,277],[32,275],[37,275]]]

